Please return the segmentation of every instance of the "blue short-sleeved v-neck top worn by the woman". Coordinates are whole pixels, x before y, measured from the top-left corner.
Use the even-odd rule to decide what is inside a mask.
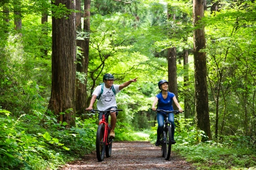
[[[173,111],[172,98],[175,94],[168,92],[166,99],[163,98],[162,92],[156,95],[158,97],[158,109],[163,109],[165,111]]]

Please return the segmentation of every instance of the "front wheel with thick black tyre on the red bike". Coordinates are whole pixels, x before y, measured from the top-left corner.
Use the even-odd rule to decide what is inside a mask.
[[[104,160],[105,155],[105,143],[104,143],[104,125],[98,125],[97,134],[96,134],[96,155],[98,161]]]

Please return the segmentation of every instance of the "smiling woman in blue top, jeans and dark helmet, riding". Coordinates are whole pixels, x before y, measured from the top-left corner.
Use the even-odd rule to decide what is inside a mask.
[[[152,104],[152,110],[156,111],[155,105],[158,103],[158,109],[163,109],[165,111],[173,111],[174,108],[172,107],[172,101],[176,104],[177,108],[179,108],[179,112],[183,112],[183,109],[180,107],[175,95],[171,92],[168,92],[168,82],[167,80],[160,80],[158,82],[158,87],[161,90],[159,94],[155,96],[154,103]],[[157,119],[158,119],[158,130],[157,134],[158,137],[155,142],[155,146],[160,145],[160,135],[163,133],[164,127],[164,113],[158,112]],[[172,126],[172,144],[175,144],[174,140],[174,131],[175,131],[175,124],[174,124],[174,113],[170,113],[168,120],[171,122]]]

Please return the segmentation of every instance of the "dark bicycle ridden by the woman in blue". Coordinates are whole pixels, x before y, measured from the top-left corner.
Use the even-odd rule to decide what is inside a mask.
[[[170,159],[171,148],[172,148],[172,130],[171,122],[168,120],[170,113],[180,113],[179,111],[164,111],[162,109],[156,109],[156,112],[164,113],[164,129],[161,134],[160,145],[162,145],[162,156],[166,159]]]

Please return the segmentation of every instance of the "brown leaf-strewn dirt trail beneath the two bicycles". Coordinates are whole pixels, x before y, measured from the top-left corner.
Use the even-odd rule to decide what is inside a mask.
[[[80,161],[72,162],[68,169],[196,169],[191,163],[171,152],[170,160],[164,160],[161,147],[150,142],[113,142],[112,155],[98,162],[96,152],[85,155]]]

